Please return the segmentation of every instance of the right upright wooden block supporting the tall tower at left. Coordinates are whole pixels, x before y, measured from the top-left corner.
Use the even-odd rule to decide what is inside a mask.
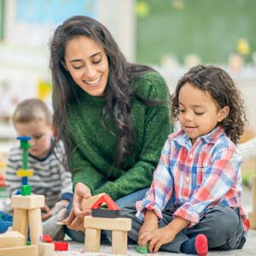
[[[43,236],[41,209],[36,208],[36,209],[29,210],[28,221],[29,221],[31,244],[38,244],[40,237]]]

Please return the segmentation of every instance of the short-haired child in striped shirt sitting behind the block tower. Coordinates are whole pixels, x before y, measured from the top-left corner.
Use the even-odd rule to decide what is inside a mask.
[[[47,219],[67,207],[73,198],[71,173],[60,162],[61,144],[59,149],[53,149],[51,113],[44,102],[28,99],[18,104],[13,114],[13,124],[17,136],[31,137],[28,141],[31,145],[28,148],[28,168],[34,173],[28,177],[28,183],[32,185],[33,194],[45,196],[42,218]],[[20,193],[21,177],[16,176],[16,172],[21,168],[22,151],[17,146],[9,150],[6,183],[10,195]],[[66,217],[67,211],[62,211],[60,215],[61,218]],[[50,233],[49,230],[47,233]]]

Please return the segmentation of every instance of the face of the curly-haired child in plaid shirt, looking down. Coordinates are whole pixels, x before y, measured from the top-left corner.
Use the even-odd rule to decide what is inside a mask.
[[[180,125],[192,143],[212,131],[229,113],[228,107],[218,108],[209,92],[190,83],[183,84],[178,102]]]

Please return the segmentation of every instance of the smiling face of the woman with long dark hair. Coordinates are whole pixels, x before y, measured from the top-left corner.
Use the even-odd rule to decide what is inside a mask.
[[[102,96],[108,83],[108,57],[90,38],[73,38],[67,43],[65,68],[79,87],[91,96]]]

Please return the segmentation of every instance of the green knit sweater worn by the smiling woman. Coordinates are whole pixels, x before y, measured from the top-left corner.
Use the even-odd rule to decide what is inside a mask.
[[[148,107],[134,98],[131,123],[136,139],[133,153],[125,159],[125,167],[113,167],[117,137],[102,125],[100,119],[105,99],[81,91],[79,104],[68,108],[68,129],[75,148],[69,163],[73,170],[73,185],[79,182],[86,184],[92,195],[104,192],[117,200],[149,187],[161,148],[171,133],[169,94],[165,80],[159,73],[149,72],[144,73],[132,86],[143,98],[166,100],[166,103]],[[108,120],[107,126],[115,134],[118,133],[113,120]]]

